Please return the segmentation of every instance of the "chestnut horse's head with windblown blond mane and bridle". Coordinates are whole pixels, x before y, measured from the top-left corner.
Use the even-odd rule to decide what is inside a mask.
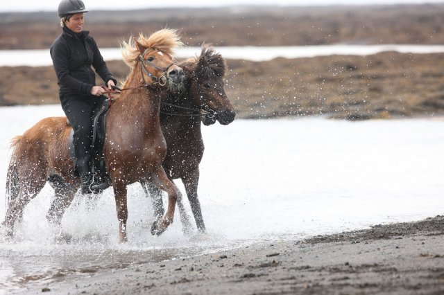
[[[178,88],[184,78],[183,70],[173,62],[174,48],[182,46],[176,30],[158,30],[149,37],[139,34],[128,43],[122,42],[123,61],[133,70],[140,70],[146,85],[167,85]]]

